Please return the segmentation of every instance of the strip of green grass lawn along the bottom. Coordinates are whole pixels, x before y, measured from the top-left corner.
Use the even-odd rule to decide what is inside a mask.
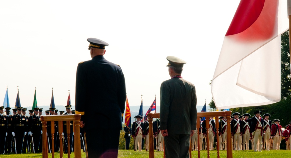
[[[198,152],[192,151],[192,157],[197,157]],[[219,155],[221,158],[226,158],[226,151],[220,151]],[[262,152],[254,152],[253,150],[245,150],[245,151],[233,151],[233,157],[235,158],[281,158],[281,157],[290,157],[291,150],[270,150],[270,151],[262,151]],[[19,157],[42,157],[42,154],[5,154],[0,155],[0,158],[19,158]],[[49,157],[52,157],[52,154],[49,154]],[[55,153],[55,157],[59,158],[59,152]],[[64,154],[63,158],[68,157],[68,154]],[[74,157],[74,153],[71,154],[71,157]],[[86,157],[85,152],[82,152],[82,157]],[[133,150],[119,150],[118,151],[119,158],[146,158],[148,157],[148,152],[145,150],[142,151],[133,151]],[[207,151],[200,151],[200,157],[207,157]],[[210,157],[216,158],[217,151],[210,151]],[[163,152],[155,151],[155,158],[163,158]]]

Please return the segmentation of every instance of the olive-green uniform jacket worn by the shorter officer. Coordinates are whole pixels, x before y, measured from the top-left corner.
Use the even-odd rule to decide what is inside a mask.
[[[161,130],[168,130],[168,135],[190,135],[196,130],[196,104],[194,84],[178,77],[164,81],[160,88]]]

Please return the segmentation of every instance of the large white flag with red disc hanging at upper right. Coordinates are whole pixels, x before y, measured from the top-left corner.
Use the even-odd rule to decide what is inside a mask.
[[[211,83],[217,109],[260,106],[281,99],[281,34],[286,1],[241,0],[224,37]]]

